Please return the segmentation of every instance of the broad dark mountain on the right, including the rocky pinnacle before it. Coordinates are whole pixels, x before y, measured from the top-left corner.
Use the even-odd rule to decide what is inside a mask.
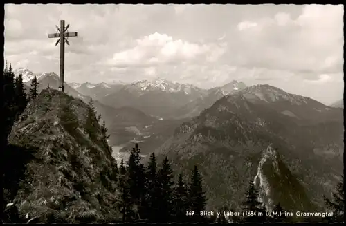
[[[179,172],[197,164],[209,209],[242,207],[254,178],[269,207],[318,209],[343,172],[343,111],[273,86],[250,86],[181,124],[156,152]]]

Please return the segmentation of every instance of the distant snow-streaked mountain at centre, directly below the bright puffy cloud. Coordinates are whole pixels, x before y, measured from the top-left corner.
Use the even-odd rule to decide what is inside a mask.
[[[127,84],[100,101],[113,107],[132,106],[148,115],[167,118],[176,109],[206,93],[206,90],[191,84],[154,79]]]

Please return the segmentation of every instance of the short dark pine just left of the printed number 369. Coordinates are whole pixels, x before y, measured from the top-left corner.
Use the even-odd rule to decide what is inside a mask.
[[[183,175],[179,174],[179,179],[174,189],[174,213],[178,222],[187,222],[186,210],[188,206],[188,190],[186,189]]]

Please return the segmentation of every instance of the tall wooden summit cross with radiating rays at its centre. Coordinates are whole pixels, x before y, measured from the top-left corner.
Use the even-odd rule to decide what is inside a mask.
[[[67,40],[68,37],[76,37],[77,32],[66,32],[69,28],[69,24],[65,27],[65,21],[60,21],[60,28],[56,26],[57,32],[55,34],[48,34],[48,38],[59,38],[57,42],[55,43],[55,46],[59,44],[60,42],[60,86],[59,90],[64,92],[65,86],[64,86],[64,63],[65,63],[65,42],[66,44],[69,44],[69,41]]]

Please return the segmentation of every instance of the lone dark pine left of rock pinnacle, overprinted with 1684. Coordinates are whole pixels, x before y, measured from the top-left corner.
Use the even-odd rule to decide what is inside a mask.
[[[244,211],[248,214],[244,219],[246,222],[262,222],[262,219],[257,216],[257,213],[262,211],[262,203],[258,201],[259,194],[253,181],[251,181],[248,186],[248,191],[246,191],[246,200],[243,203],[245,205]]]

